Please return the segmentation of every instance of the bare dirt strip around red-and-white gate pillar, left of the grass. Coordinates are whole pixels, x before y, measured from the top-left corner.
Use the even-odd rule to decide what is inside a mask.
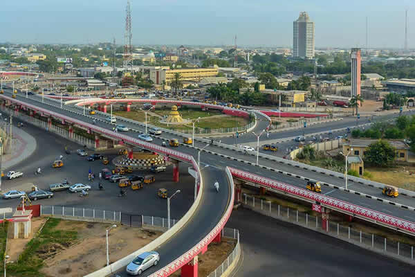
[[[16,261],[19,258],[19,255],[23,252],[26,244],[33,239],[33,236],[39,231],[40,227],[46,222],[45,217],[35,217],[32,219],[32,232],[29,235],[29,238],[18,238],[14,239],[13,235],[15,233],[15,224],[10,223],[8,225],[7,237],[8,244],[6,253],[10,256],[9,261]]]

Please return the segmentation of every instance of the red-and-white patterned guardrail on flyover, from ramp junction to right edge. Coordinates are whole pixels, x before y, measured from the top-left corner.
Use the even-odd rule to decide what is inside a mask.
[[[322,206],[326,206],[332,210],[353,215],[354,217],[359,217],[362,220],[367,220],[369,222],[375,222],[376,224],[387,226],[403,233],[415,235],[415,223],[413,222],[402,220],[398,217],[386,215],[385,213],[380,213],[378,211],[351,204],[349,202],[344,202],[339,199],[321,195],[320,193],[313,193],[303,188],[298,188],[296,186],[284,184],[282,182],[261,177],[249,172],[244,172],[236,168],[230,168],[230,172],[232,172],[232,176],[234,178],[248,181],[253,184],[259,184],[268,190],[273,190],[277,193],[284,193],[290,195],[291,197],[303,199],[311,203],[319,202]]]

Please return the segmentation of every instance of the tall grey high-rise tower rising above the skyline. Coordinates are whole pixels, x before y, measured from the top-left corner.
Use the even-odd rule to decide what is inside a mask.
[[[314,57],[314,22],[310,20],[307,12],[300,12],[294,21],[294,57]]]

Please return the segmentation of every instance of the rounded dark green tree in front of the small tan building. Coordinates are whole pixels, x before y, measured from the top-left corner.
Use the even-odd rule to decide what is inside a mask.
[[[366,150],[365,163],[372,166],[389,166],[395,160],[395,148],[389,142],[379,140]]]

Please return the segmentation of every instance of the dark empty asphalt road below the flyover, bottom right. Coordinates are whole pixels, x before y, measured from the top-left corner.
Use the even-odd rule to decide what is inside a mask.
[[[415,267],[243,208],[233,211],[227,226],[239,229],[241,238],[237,277],[414,276]]]

